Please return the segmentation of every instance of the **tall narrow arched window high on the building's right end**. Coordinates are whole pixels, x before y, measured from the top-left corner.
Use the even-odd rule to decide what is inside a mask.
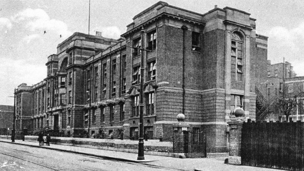
[[[243,38],[234,32],[231,40],[231,80],[244,81],[243,75]]]

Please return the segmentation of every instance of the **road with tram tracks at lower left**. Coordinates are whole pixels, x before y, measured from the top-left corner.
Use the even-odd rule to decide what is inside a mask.
[[[0,170],[176,170],[0,142]]]

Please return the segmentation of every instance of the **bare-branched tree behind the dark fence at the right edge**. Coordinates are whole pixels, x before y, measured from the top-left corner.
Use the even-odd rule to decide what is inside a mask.
[[[286,86],[280,92],[280,96],[278,97],[279,111],[286,116],[286,121],[288,121],[292,112],[296,111],[297,107],[303,107],[303,101],[300,98],[303,95],[304,92],[299,87],[296,87],[291,93],[288,91],[288,86]]]

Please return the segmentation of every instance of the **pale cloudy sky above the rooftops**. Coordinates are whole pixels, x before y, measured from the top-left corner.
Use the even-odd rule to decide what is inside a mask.
[[[157,0],[91,0],[90,34],[119,38],[132,18]],[[204,14],[232,7],[251,14],[256,33],[268,36],[272,64],[292,63],[304,76],[304,1],[283,0],[164,0],[169,5]],[[13,105],[14,88],[46,77],[47,57],[74,32],[88,33],[89,0],[0,1],[0,104]],[[45,33],[44,33],[45,31]],[[60,37],[61,35],[61,37]]]

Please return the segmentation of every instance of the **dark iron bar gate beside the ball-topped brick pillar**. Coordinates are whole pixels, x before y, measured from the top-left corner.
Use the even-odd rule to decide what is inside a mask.
[[[206,157],[206,132],[184,132],[184,151],[187,158]]]

